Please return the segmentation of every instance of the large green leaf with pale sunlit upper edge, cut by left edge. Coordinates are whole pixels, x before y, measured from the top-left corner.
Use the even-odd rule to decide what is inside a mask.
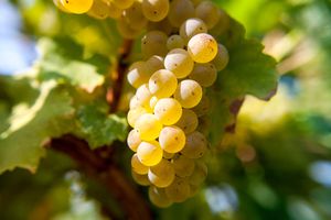
[[[41,85],[31,107],[23,102],[12,109],[10,127],[0,135],[0,174],[15,167],[35,172],[45,154],[42,147],[49,139],[60,136],[72,128],[72,99],[54,81]],[[33,89],[33,88],[31,88]]]

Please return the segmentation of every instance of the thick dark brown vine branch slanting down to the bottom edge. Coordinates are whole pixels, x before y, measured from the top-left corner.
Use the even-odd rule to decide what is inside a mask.
[[[103,184],[119,201],[127,219],[151,219],[143,198],[135,190],[121,170],[114,163],[103,158],[97,151],[90,150],[87,142],[72,135],[64,135],[53,139],[49,146],[68,155],[89,177]]]

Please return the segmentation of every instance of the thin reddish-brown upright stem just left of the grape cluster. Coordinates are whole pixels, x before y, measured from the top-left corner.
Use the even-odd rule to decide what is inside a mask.
[[[110,113],[118,110],[120,96],[126,78],[126,72],[128,68],[127,59],[131,53],[134,45],[132,40],[124,40],[121,47],[119,48],[117,64],[111,73],[111,87],[107,91],[107,101],[110,106]]]

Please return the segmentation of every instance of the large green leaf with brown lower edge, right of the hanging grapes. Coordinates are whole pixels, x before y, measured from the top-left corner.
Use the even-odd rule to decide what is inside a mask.
[[[244,28],[231,19],[227,32],[220,37],[229,54],[227,67],[218,73],[210,91],[215,105],[212,109],[211,139],[215,144],[224,132],[234,132],[236,116],[246,95],[269,99],[277,88],[276,62],[263,53],[263,45],[245,40]]]

